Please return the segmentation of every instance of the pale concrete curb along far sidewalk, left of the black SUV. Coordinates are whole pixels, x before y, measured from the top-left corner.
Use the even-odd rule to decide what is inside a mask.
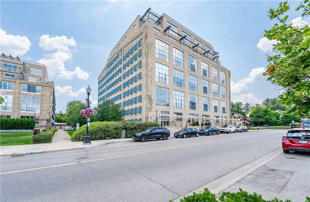
[[[57,150],[48,150],[48,151],[41,151],[41,152],[26,152],[26,153],[14,153],[14,154],[2,154],[0,157],[14,157],[14,156],[25,156],[25,155],[33,155],[33,154],[44,154],[44,153],[54,153],[54,152],[61,152],[61,151],[72,151],[72,150],[81,150],[81,149],[91,149],[95,147],[100,147],[102,145],[108,145],[118,142],[132,142],[135,140],[123,140],[123,141],[110,141],[110,142],[104,142],[100,143],[98,145],[91,145],[86,147],[77,147],[77,148],[70,148],[70,149],[57,149]]]

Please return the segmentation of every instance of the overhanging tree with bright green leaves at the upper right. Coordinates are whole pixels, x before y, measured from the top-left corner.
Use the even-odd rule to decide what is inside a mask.
[[[278,98],[283,105],[292,106],[286,112],[299,117],[310,117],[310,27],[294,26],[285,13],[290,9],[287,2],[281,2],[277,9],[270,9],[268,17],[278,22],[265,37],[277,40],[273,45],[273,56],[268,56],[268,66],[263,75],[272,84],[285,90]],[[310,3],[303,0],[295,9],[302,11],[302,17],[310,16]]]

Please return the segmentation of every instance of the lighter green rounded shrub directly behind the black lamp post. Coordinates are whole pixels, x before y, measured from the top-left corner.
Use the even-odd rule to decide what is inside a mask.
[[[72,141],[84,141],[86,135],[86,124],[78,128],[71,136]],[[121,138],[122,124],[120,122],[93,122],[88,128],[91,140],[108,140]]]

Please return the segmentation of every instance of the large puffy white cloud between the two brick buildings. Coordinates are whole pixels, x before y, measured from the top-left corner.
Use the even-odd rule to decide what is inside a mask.
[[[69,71],[64,66],[65,61],[72,59],[73,50],[70,47],[76,46],[76,41],[73,37],[68,39],[66,36],[50,37],[49,35],[42,35],[39,46],[46,51],[57,50],[55,53],[44,54],[44,58],[38,60],[39,63],[47,67],[48,74],[51,77],[58,79],[73,79],[76,77],[82,80],[89,78],[89,73],[82,70],[79,66],[75,67],[73,71]]]

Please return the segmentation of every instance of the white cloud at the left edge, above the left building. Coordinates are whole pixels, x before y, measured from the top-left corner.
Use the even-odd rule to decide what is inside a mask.
[[[13,57],[22,56],[27,53],[31,47],[31,42],[26,36],[7,34],[0,28],[1,52]]]

